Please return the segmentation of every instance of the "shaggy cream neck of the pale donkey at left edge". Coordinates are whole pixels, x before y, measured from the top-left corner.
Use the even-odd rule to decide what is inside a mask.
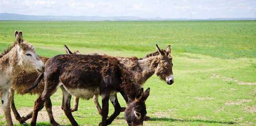
[[[21,67],[18,65],[17,46],[14,46],[7,54],[0,58],[0,71],[6,76],[18,75]]]

